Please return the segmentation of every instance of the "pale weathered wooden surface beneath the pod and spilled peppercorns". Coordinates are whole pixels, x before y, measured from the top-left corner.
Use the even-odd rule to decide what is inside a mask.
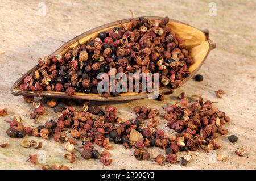
[[[211,39],[217,43],[199,70],[204,75],[203,82],[193,79],[185,83],[166,100],[157,102],[151,99],[115,104],[120,111],[118,116],[123,120],[135,117],[131,109],[135,105],[151,105],[160,110],[160,127],[166,132],[166,120],[163,119],[163,107],[177,101],[180,92],[187,96],[200,94],[205,99],[213,100],[216,107],[231,117],[226,125],[229,134],[236,134],[238,141],[231,144],[228,136],[218,140],[222,145],[218,154],[228,157],[226,161],[209,162],[212,154],[201,151],[191,152],[193,161],[187,167],[166,164],[159,166],[152,161],[137,161],[132,157],[133,149],[124,150],[122,145],[114,145],[110,150],[113,163],[104,169],[256,169],[256,46],[255,16],[256,4],[253,1],[214,1],[217,5],[217,16],[209,16],[208,3],[203,1],[44,1],[46,15],[40,14],[43,1],[3,1],[0,0],[0,108],[6,107],[9,115],[0,117],[0,143],[7,141],[6,148],[0,148],[0,169],[40,169],[40,165],[27,163],[28,154],[37,154],[37,150],[22,148],[20,141],[7,137],[9,127],[3,120],[13,116],[22,116],[25,125],[32,123],[29,113],[30,104],[24,103],[22,96],[10,94],[10,87],[23,73],[31,69],[38,60],[52,53],[65,41],[75,35],[90,30],[101,24],[119,19],[130,18],[129,10],[135,16],[169,16],[172,19],[204,29],[209,28]],[[222,99],[214,91],[223,89]],[[102,105],[104,107],[105,105]],[[39,124],[55,119],[55,113],[47,108],[46,116],[39,118]],[[27,137],[28,140],[39,140]],[[72,169],[102,169],[100,161],[86,161],[80,156],[71,164],[64,159],[63,144],[53,140],[42,140],[46,151],[46,162],[63,163]],[[234,150],[242,146],[247,152],[238,157]],[[98,148],[96,146],[96,148]],[[102,149],[100,149],[102,150]],[[151,157],[163,153],[162,149],[150,148]],[[181,156],[182,154],[179,154]]]

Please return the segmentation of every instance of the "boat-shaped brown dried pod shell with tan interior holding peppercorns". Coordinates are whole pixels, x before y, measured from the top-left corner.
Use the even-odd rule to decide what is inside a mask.
[[[145,17],[147,19],[155,19],[161,20],[162,17],[148,16]],[[135,18],[135,19],[139,19]],[[54,56],[56,54],[64,55],[69,49],[78,45],[77,40],[79,40],[80,44],[84,44],[86,41],[89,41],[93,36],[97,36],[99,32],[108,30],[113,27],[121,27],[122,24],[129,23],[130,19],[123,19],[117,22],[108,23],[102,25],[97,28],[93,28],[92,30],[86,31],[81,35],[69,40],[67,43],[62,45],[59,49],[53,52],[49,57]],[[182,80],[182,84],[187,82],[190,78],[192,78],[196,71],[199,70],[201,65],[204,63],[207,58],[210,50],[216,48],[216,44],[213,43],[209,39],[209,31],[208,30],[199,30],[198,28],[192,27],[188,24],[179,22],[177,20],[170,19],[168,26],[172,31],[176,33],[178,37],[184,39],[184,45],[189,50],[189,55],[193,58],[194,63],[189,66],[189,74],[188,77]],[[93,100],[100,102],[108,102],[108,101],[126,101],[126,100],[134,100],[134,99],[142,99],[148,98],[149,93],[136,93],[136,92],[127,92],[121,93],[120,96],[111,96],[111,97],[103,97],[99,94],[85,94],[80,92],[75,92],[74,95],[69,96],[65,95],[65,92],[54,92],[54,91],[22,91],[19,89],[19,85],[23,82],[23,79],[32,71],[40,68],[40,65],[34,66],[31,70],[29,70],[26,74],[20,77],[14,85],[11,87],[11,94],[13,95],[26,95],[26,96],[42,96],[42,97],[52,97],[52,98],[66,98],[66,99],[84,99],[84,100]],[[170,87],[160,87],[159,94],[168,94],[172,89]]]

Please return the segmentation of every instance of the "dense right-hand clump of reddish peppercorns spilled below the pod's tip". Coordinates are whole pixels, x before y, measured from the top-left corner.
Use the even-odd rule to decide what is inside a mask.
[[[189,150],[195,151],[197,148],[206,152],[220,148],[216,141],[217,134],[228,134],[228,130],[223,126],[229,117],[216,107],[213,107],[210,100],[203,102],[203,98],[196,103],[189,105],[188,99],[181,94],[179,104],[167,106],[164,118],[168,120],[167,126],[181,134],[177,137],[176,144],[171,144],[174,153],[187,146]],[[225,119],[228,117],[228,119]]]

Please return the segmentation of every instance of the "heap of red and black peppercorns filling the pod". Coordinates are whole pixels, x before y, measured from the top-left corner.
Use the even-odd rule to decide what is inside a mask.
[[[170,30],[168,22],[168,17],[160,21],[131,19],[121,27],[100,32],[85,44],[79,43],[64,56],[39,58],[41,67],[24,78],[20,90],[97,93],[97,75],[110,75],[110,69],[114,74],[159,73],[160,86],[180,87],[193,60],[184,40]],[[138,88],[141,91],[142,87]]]

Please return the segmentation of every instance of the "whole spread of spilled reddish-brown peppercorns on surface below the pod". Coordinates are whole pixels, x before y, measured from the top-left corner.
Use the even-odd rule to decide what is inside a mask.
[[[192,100],[195,100],[195,96]],[[39,104],[40,106],[42,104]],[[117,117],[115,106],[106,106],[105,110],[102,110],[85,102],[81,110],[77,111],[71,106],[65,107],[64,110],[56,113],[57,121],[47,121],[44,125],[35,128],[24,127],[21,118],[14,117],[12,121],[7,121],[10,128],[6,133],[10,137],[22,138],[28,134],[44,139],[53,137],[57,142],[65,142],[65,150],[68,153],[64,157],[71,163],[75,162],[76,150],[84,159],[100,159],[103,165],[110,165],[112,159],[107,150],[112,148],[109,142],[113,141],[115,144],[123,144],[125,149],[133,147],[134,157],[139,160],[149,159],[150,153],[147,148],[158,146],[164,149],[166,156],[159,154],[154,158],[155,162],[163,165],[166,161],[168,163],[180,161],[183,166],[191,162],[191,157],[185,155],[179,160],[178,152],[200,149],[207,153],[219,149],[220,145],[216,141],[218,133],[228,133],[223,126],[230,120],[229,117],[214,107],[210,100],[203,102],[200,96],[197,96],[197,102],[189,105],[188,98],[181,93],[179,103],[166,106],[164,118],[168,120],[167,126],[176,131],[175,134],[166,134],[162,129],[157,128],[156,116],[159,114],[157,110],[147,106],[136,106],[133,111],[137,117],[123,121]],[[147,124],[144,121],[146,119],[150,119]],[[237,137],[230,136],[229,140],[236,142]],[[100,154],[94,149],[93,143],[104,147],[105,150]],[[42,143],[33,140],[23,140],[21,145],[35,149],[42,147]],[[236,151],[238,155],[244,153],[243,150]]]

